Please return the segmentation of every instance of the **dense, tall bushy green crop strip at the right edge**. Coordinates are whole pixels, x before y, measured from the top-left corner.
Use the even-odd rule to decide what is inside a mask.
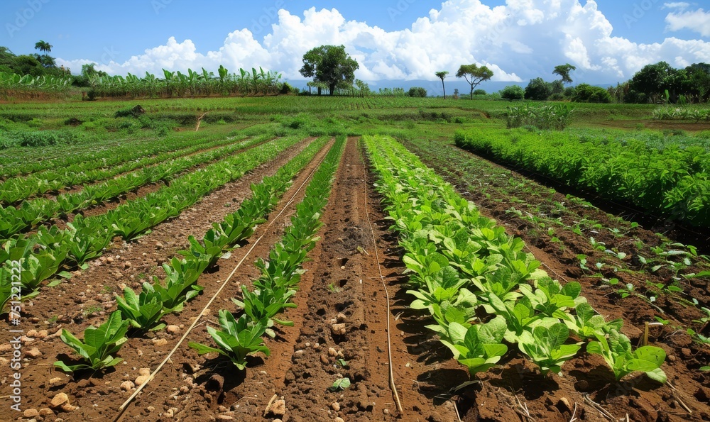
[[[710,152],[699,146],[668,143],[659,149],[603,133],[497,129],[459,132],[455,143],[574,189],[591,189],[656,216],[710,227]]]

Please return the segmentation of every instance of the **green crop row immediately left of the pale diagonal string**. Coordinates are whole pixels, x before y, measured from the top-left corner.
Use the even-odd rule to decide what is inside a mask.
[[[216,264],[224,252],[234,248],[241,240],[249,238],[258,224],[263,223],[281,196],[288,189],[290,180],[323,147],[327,138],[316,140],[273,176],[264,177],[260,184],[252,184],[252,196],[242,202],[239,210],[229,214],[205,233],[202,240],[189,238],[190,248],[178,252],[184,257],[173,257],[163,264],[165,280],[153,277],[153,282],[144,282],[141,292],[136,294],[126,287],[123,296],[116,296],[118,311],[95,328],[89,326],[80,340],[70,331],[62,330],[62,341],[75,350],[83,359],[77,365],[67,365],[57,361],[55,366],[65,372],[99,370],[121,362],[114,357],[121,346],[128,341],[126,333],[130,328],[138,333],[157,331],[165,324],[160,320],[168,313],[180,312],[186,301],[200,294],[203,287],[197,284],[200,274]],[[102,335],[95,335],[101,333]]]

